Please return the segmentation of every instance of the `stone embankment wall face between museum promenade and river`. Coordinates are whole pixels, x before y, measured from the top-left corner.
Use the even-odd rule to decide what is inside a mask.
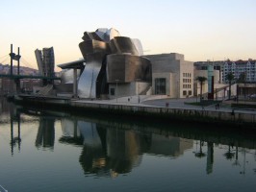
[[[79,103],[71,102],[71,108],[88,108],[90,111],[108,112],[113,114],[127,114],[136,117],[150,117],[165,120],[184,120],[203,123],[217,123],[221,125],[230,124],[256,129],[256,114],[239,113],[236,111],[211,111],[198,109],[181,109],[181,108],[154,108],[141,106],[122,106],[96,103]]]

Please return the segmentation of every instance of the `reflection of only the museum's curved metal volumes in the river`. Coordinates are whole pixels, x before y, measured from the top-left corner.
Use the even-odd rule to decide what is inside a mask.
[[[140,165],[141,154],[150,144],[148,135],[87,121],[62,119],[62,129],[61,142],[83,146],[79,162],[85,174],[116,177],[129,173]]]

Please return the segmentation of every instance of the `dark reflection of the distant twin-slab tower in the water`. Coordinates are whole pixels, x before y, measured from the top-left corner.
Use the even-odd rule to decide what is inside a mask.
[[[55,140],[55,119],[50,117],[40,117],[36,147],[53,149]]]

